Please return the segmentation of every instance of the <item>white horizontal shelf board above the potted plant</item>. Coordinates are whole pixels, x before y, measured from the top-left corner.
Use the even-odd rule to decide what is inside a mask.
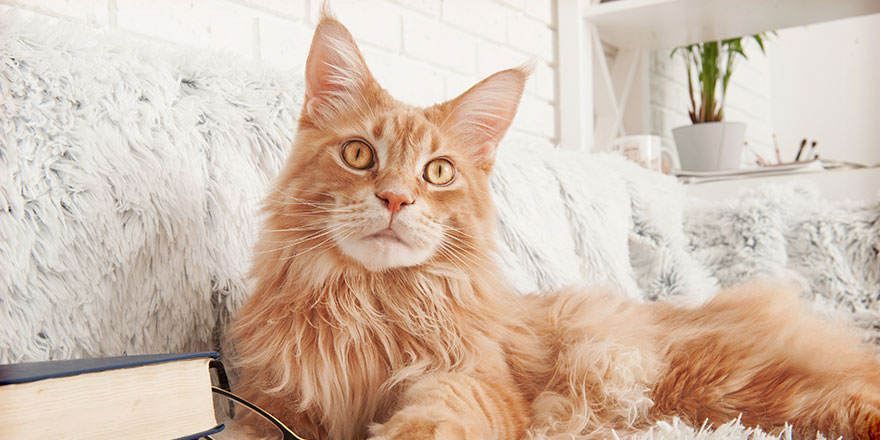
[[[662,49],[880,13],[880,0],[617,0],[586,5],[602,40]]]

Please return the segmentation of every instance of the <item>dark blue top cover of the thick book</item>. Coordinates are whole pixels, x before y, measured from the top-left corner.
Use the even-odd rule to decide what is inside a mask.
[[[165,353],[137,356],[117,356],[95,359],[74,359],[66,361],[23,362],[19,364],[0,365],[0,385],[35,382],[55,377],[75,376],[78,374],[109,371],[120,368],[139,367],[142,365],[161,364],[210,357],[218,359],[220,355],[213,351],[201,353]]]

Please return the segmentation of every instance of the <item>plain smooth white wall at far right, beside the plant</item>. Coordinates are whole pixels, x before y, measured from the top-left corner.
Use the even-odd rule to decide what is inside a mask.
[[[823,158],[880,163],[880,15],[779,31],[770,65],[784,158],[809,138]]]

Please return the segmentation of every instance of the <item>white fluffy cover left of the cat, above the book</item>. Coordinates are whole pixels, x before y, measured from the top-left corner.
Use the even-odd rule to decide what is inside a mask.
[[[0,362],[210,348],[301,88],[9,16],[0,60]]]

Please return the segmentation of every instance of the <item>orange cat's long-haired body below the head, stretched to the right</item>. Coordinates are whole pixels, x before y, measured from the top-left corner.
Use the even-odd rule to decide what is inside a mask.
[[[443,422],[450,426],[437,438],[516,439],[526,430],[609,438],[612,429],[623,434],[673,416],[699,426],[740,413],[768,431],[794,423],[803,434],[878,434],[859,436],[854,423],[880,424],[877,364],[851,334],[800,311],[791,292],[744,287],[695,310],[584,291],[499,295],[495,307],[485,298],[427,307],[433,295],[375,295],[447,288],[442,274],[427,278],[363,279],[351,283],[354,292],[340,281],[330,301],[289,298],[302,308],[270,302],[299,314],[293,321],[246,315],[266,319],[249,337],[274,357],[246,371],[239,389],[313,439],[365,438],[371,423],[419,402],[408,390],[438,396],[422,397],[424,413],[413,420],[386,423],[388,438],[434,438],[407,430],[433,434]],[[300,411],[302,403],[310,410]]]

